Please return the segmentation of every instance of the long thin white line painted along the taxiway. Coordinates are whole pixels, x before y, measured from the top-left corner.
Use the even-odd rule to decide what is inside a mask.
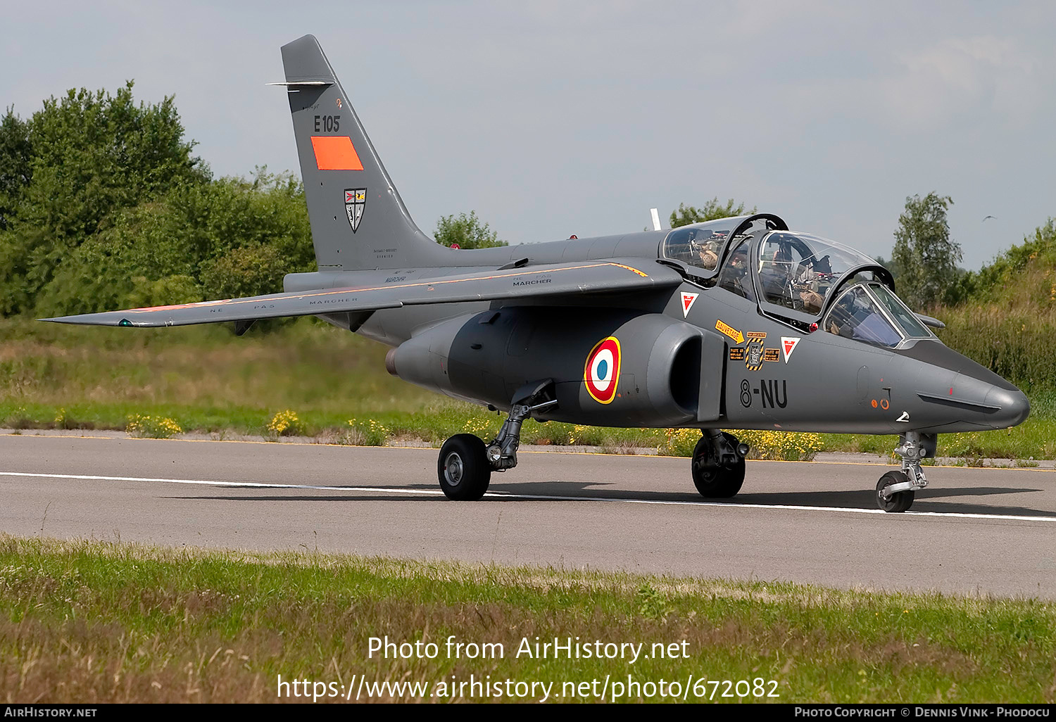
[[[38,474],[30,472],[0,472],[0,476],[23,476],[44,479],[83,479],[88,481],[161,481],[163,483],[194,483],[204,487],[243,487],[249,489],[306,489],[312,491],[370,492],[380,494],[408,494],[412,496],[442,496],[438,489],[399,489],[396,487],[324,487],[309,483],[264,483],[262,481],[210,481],[208,479],[165,479],[150,476],[91,476],[88,474]],[[545,483],[562,483],[552,479]],[[610,496],[552,496],[545,494],[510,494],[489,492],[489,496],[528,501],[609,501],[618,504],[648,504],[674,507],[722,507],[724,509],[788,509],[792,511],[850,512],[853,514],[887,514],[881,509],[856,507],[808,507],[794,504],[738,504],[736,501],[680,501],[664,499],[621,499]],[[1013,514],[970,514],[966,512],[902,512],[908,516],[941,516],[963,519],[1003,519],[1011,521],[1056,522],[1056,516],[1017,516]]]

